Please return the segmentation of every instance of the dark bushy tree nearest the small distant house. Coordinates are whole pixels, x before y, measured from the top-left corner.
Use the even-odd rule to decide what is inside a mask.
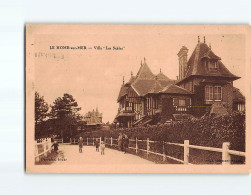
[[[57,133],[61,137],[72,136],[82,116],[78,113],[81,110],[72,95],[65,93],[58,97],[51,106],[50,117],[56,120]]]

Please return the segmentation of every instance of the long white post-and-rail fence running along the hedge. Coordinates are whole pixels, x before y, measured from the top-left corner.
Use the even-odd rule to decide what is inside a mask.
[[[86,145],[94,145],[95,144],[95,140],[98,139],[100,142],[102,140],[101,137],[99,138],[84,138],[84,144]],[[104,143],[108,146],[111,147],[118,147],[118,143],[117,143],[118,139],[114,139],[113,137],[110,138],[106,138],[104,137]],[[171,142],[162,142],[162,153],[158,153],[158,152],[153,152],[150,150],[150,144],[151,143],[159,143],[158,141],[152,141],[150,139],[147,140],[139,140],[139,139],[129,139],[129,143],[130,142],[134,142],[135,147],[128,147],[129,149],[132,149],[135,151],[135,154],[138,155],[139,151],[145,152],[147,159],[149,158],[150,154],[154,154],[154,155],[158,155],[162,157],[163,161],[166,161],[166,159],[172,159],[174,161],[180,162],[182,164],[190,164],[189,163],[189,151],[190,148],[192,149],[197,149],[197,150],[204,150],[204,151],[212,151],[212,152],[218,152],[218,153],[222,153],[222,159],[221,162],[222,164],[231,164],[231,155],[235,155],[235,156],[242,156],[245,157],[246,154],[245,152],[241,152],[241,151],[235,151],[235,150],[230,150],[230,143],[229,142],[224,142],[222,144],[222,148],[213,148],[213,147],[205,147],[205,146],[197,146],[197,145],[190,145],[189,144],[189,140],[184,140],[183,144],[180,143],[171,143]],[[139,143],[146,143],[144,149],[139,147]],[[70,139],[70,143],[71,144],[77,144],[78,143],[78,139]],[[130,144],[129,144],[130,145]],[[142,145],[142,144],[141,144]],[[165,148],[168,147],[168,145],[175,145],[175,146],[179,146],[183,148],[184,151],[184,155],[183,155],[183,159],[178,159],[172,156],[169,156],[167,154],[165,154]],[[117,148],[118,149],[118,148]]]

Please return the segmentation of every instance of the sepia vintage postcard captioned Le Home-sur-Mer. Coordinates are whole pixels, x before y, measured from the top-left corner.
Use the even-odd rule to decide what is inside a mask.
[[[26,172],[249,172],[249,26],[25,31]]]

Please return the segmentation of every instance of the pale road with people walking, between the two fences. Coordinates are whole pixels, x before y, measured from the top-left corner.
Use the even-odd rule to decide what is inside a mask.
[[[83,153],[79,153],[78,145],[60,144],[57,160],[53,164],[154,164],[136,155],[106,148],[105,155],[96,152],[94,146],[84,146]]]

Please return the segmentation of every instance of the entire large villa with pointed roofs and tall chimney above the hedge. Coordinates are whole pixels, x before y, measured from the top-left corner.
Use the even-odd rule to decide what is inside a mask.
[[[204,43],[198,41],[189,59],[187,54],[183,46],[178,53],[176,81],[161,70],[154,75],[144,60],[137,75],[123,81],[114,122],[131,127],[245,110],[245,97],[233,87],[240,77],[226,68],[205,39]]]

